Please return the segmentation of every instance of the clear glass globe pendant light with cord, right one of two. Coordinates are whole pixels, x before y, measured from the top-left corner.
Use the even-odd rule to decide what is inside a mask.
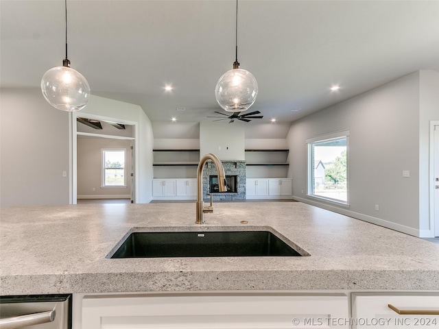
[[[236,0],[235,62],[233,69],[219,78],[215,98],[228,112],[244,112],[252,106],[258,95],[258,83],[252,73],[239,69],[238,62],[238,0]]]

